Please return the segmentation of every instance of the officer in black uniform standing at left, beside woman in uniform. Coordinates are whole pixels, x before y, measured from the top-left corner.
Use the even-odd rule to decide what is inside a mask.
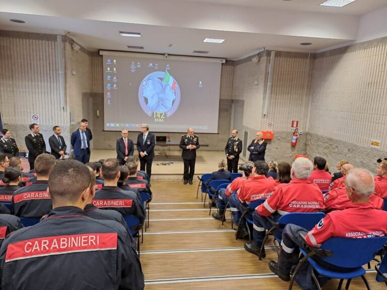
[[[46,143],[44,142],[43,135],[39,133],[40,127],[38,124],[32,123],[29,128],[31,133],[24,137],[24,141],[28,149],[30,169],[34,169],[36,157],[42,153],[46,153]]]

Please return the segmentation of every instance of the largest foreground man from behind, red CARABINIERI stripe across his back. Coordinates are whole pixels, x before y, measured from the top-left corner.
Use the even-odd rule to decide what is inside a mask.
[[[3,289],[144,288],[141,264],[125,228],[91,219],[83,211],[90,183],[90,171],[80,162],[56,164],[47,189],[53,209],[40,223],[3,242]]]

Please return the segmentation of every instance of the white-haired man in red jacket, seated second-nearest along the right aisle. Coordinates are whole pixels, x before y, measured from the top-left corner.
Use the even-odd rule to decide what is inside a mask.
[[[313,164],[309,159],[297,158],[290,170],[292,180],[277,186],[265,202],[255,208],[252,213],[253,242],[244,244],[247,252],[259,256],[266,230],[272,227],[267,217],[277,222],[282,215],[289,212],[317,212],[324,208],[321,190],[308,181],[312,171]],[[278,231],[274,231],[273,235],[281,237]],[[265,249],[262,257],[266,257]]]

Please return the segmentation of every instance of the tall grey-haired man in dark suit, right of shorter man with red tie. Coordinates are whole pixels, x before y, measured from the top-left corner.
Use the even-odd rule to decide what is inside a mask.
[[[146,170],[149,178],[151,178],[152,161],[155,157],[155,144],[155,135],[149,132],[149,125],[141,124],[141,133],[137,137],[137,150],[139,151],[140,170]]]

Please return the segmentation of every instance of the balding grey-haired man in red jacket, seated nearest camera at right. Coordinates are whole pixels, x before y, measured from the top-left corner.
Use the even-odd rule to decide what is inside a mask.
[[[369,202],[374,188],[373,176],[368,170],[351,169],[345,179],[345,189],[352,205],[343,210],[331,211],[309,232],[296,225],[287,225],[282,234],[278,262],[270,261],[270,270],[282,280],[290,280],[290,269],[298,263],[299,247],[303,245],[301,236],[313,248],[320,248],[333,237],[356,239],[386,236],[387,212],[373,208]],[[361,223],[354,222],[359,221],[359,217]],[[338,270],[330,264],[325,267]]]

